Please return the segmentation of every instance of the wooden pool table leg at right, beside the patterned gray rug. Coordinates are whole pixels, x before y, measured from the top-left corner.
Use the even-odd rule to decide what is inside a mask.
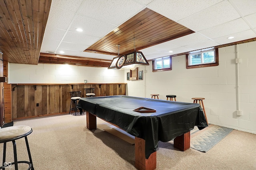
[[[174,138],[174,148],[182,151],[190,148],[190,131]]]

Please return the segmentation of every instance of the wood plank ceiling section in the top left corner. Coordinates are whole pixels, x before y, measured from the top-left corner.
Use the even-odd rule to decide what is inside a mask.
[[[52,0],[0,0],[0,51],[4,61],[38,64]]]

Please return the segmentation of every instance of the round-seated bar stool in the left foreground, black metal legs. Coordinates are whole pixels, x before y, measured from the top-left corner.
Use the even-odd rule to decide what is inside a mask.
[[[27,136],[32,133],[32,128],[29,126],[10,126],[10,127],[4,127],[0,129],[0,143],[4,143],[4,151],[3,151],[3,163],[0,167],[0,169],[9,169],[12,168],[11,165],[14,165],[15,170],[18,170],[18,164],[23,163],[23,164],[28,164],[28,170],[34,170],[33,163],[32,163],[32,158],[30,154],[30,149],[28,145],[28,138]],[[26,141],[26,147],[28,150],[28,161],[18,161],[17,159],[17,150],[16,150],[16,142],[15,140],[20,139],[20,138],[25,138]],[[6,143],[7,142],[12,142],[13,145],[13,153],[14,153],[14,162],[5,162],[6,161]]]

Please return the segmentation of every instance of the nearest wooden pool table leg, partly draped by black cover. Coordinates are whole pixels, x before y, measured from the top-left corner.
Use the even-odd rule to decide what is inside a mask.
[[[156,152],[150,154],[149,158],[145,157],[145,140],[135,137],[135,167],[138,170],[156,169]]]

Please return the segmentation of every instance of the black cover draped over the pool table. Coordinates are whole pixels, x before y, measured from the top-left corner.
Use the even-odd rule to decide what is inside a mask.
[[[144,139],[146,158],[156,151],[158,141],[171,141],[194,126],[200,130],[208,126],[200,104],[194,103],[119,95],[81,98],[78,107]],[[156,109],[156,112],[133,111],[138,107]]]

